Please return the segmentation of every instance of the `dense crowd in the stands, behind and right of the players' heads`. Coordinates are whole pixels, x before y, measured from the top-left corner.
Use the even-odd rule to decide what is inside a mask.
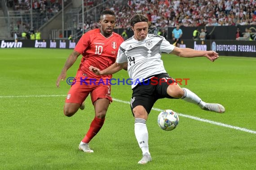
[[[256,25],[255,0],[128,0],[127,4],[106,5],[115,11],[116,28],[128,28],[136,13],[149,18],[152,26],[244,26]],[[102,9],[103,10],[103,9]],[[86,30],[97,24],[88,22]]]

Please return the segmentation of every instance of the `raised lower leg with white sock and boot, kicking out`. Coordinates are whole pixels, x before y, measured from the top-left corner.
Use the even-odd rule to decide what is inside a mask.
[[[198,105],[203,110],[214,111],[217,113],[224,113],[225,108],[218,103],[206,103],[201,100],[195,93],[191,92],[189,89],[182,88],[184,90],[184,96],[181,98],[186,102],[194,103]]]

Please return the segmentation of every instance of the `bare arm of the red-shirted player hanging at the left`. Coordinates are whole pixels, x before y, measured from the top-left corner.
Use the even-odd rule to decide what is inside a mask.
[[[76,61],[76,59],[77,59],[77,57],[79,55],[80,55],[80,53],[75,51],[75,50],[71,53],[71,55],[69,55],[69,57],[66,60],[66,63],[64,65],[64,67],[62,68],[61,74],[57,78],[57,81],[56,81],[57,88],[59,88],[59,86],[60,86],[60,81],[61,80],[62,81],[65,80],[65,78],[66,78],[66,71],[75,63],[75,61]]]

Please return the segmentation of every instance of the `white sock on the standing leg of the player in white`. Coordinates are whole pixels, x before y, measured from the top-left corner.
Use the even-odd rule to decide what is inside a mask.
[[[148,135],[145,119],[140,119],[140,118],[135,119],[134,132],[135,132],[135,136],[138,141],[138,144],[141,148],[142,154],[145,154],[145,153],[150,154],[149,144],[148,144],[149,135]]]

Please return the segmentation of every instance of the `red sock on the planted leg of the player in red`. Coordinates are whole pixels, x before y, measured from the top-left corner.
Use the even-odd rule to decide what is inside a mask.
[[[104,121],[105,121],[105,118],[100,119],[95,117],[90,125],[88,132],[84,136],[84,139],[82,140],[82,142],[89,143],[93,139],[93,137],[97,135],[97,133],[101,130],[104,124]]]

